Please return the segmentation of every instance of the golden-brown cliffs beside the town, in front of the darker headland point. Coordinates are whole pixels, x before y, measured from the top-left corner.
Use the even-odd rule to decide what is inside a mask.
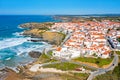
[[[29,31],[25,31],[23,34],[29,35],[34,38],[42,38],[42,40],[47,41],[51,44],[56,44],[56,45],[59,45],[65,38],[65,35],[62,33],[43,31],[43,30],[41,31],[38,29],[32,29]]]

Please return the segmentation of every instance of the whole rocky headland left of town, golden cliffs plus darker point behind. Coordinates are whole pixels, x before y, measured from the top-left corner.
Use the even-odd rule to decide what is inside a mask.
[[[51,25],[54,23],[25,23],[21,24],[22,28],[29,28],[25,30],[23,35],[31,36],[33,38],[42,38],[44,41],[47,41],[51,44],[60,45],[60,43],[65,38],[65,34],[60,32],[50,31]]]

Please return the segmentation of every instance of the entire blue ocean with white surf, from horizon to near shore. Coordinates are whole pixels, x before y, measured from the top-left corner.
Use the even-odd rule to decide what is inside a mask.
[[[0,69],[15,68],[33,61],[28,53],[42,51],[51,45],[46,42],[30,42],[30,37],[20,35],[24,29],[18,26],[29,22],[55,22],[53,16],[0,15]]]

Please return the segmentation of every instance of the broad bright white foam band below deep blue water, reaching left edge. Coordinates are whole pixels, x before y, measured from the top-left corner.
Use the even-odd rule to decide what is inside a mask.
[[[20,45],[20,44],[22,44],[22,43],[24,43],[26,41],[27,41],[26,38],[9,38],[9,39],[5,39],[5,40],[0,41],[0,49],[17,46],[17,45]]]

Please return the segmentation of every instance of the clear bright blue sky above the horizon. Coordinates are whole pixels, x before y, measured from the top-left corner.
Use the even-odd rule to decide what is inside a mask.
[[[120,0],[0,0],[0,14],[120,14]]]

